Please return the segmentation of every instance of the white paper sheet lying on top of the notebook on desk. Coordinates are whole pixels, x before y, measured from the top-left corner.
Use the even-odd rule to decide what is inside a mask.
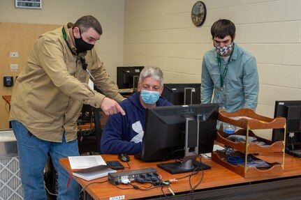
[[[85,169],[97,165],[106,165],[101,155],[69,156],[71,169]]]

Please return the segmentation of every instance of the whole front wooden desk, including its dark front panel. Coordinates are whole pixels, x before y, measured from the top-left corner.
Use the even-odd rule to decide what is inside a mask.
[[[117,155],[102,155],[104,160],[118,160]],[[60,164],[71,173],[70,164],[68,158],[63,158],[59,160]],[[235,174],[228,169],[221,167],[221,165],[212,162],[211,160],[203,159],[205,164],[209,164],[212,169],[205,170],[203,180],[196,187],[193,192],[193,199],[265,199],[269,197],[270,199],[293,199],[295,197],[300,197],[301,195],[301,160],[292,157],[291,155],[286,155],[286,168],[282,176],[274,177],[258,177],[258,178],[243,178]],[[142,162],[140,160],[135,160],[131,155],[131,161],[129,162],[131,169],[143,169],[147,167],[154,167],[158,170],[158,174],[161,174],[163,180],[168,180],[172,178],[180,178],[186,174],[169,174],[156,166],[159,162]],[[123,163],[124,164],[124,163]],[[126,164],[124,164],[126,167]],[[126,169],[125,169],[126,170]],[[202,178],[202,172],[200,171],[196,176],[191,177],[191,185],[194,187],[198,181]],[[83,188],[93,197],[94,199],[110,199],[110,197],[122,197],[124,199],[140,199],[144,197],[164,197],[163,192],[170,195],[170,191],[167,187],[163,187],[163,192],[161,188],[156,188],[153,190],[121,190],[111,183],[95,183],[86,187],[87,184],[93,182],[100,182],[108,180],[108,177],[99,178],[96,180],[85,181],[81,178],[76,178],[75,180],[82,185]],[[134,183],[135,185],[142,186],[142,184]],[[145,184],[143,184],[145,185]],[[131,188],[131,185],[118,185],[123,188]],[[146,184],[145,186],[149,186]],[[191,187],[189,186],[189,178],[179,179],[177,182],[172,183],[170,188],[175,192],[175,196],[170,196],[177,199],[187,199]],[[183,193],[184,192],[184,193]],[[165,197],[164,197],[165,198]]]

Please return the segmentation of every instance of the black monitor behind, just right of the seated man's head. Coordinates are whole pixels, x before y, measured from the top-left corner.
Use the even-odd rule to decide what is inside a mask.
[[[164,84],[162,96],[173,105],[200,104],[200,84]]]

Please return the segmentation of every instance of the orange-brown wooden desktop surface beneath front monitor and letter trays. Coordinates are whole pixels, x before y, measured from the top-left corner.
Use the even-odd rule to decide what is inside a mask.
[[[117,155],[101,155],[104,160],[118,160]],[[270,155],[269,155],[270,156]],[[272,155],[270,157],[270,160],[274,160],[274,157],[279,157],[279,155]],[[163,180],[169,180],[172,178],[181,178],[183,176],[189,175],[190,173],[185,173],[185,174],[169,174],[166,171],[163,171],[159,167],[156,166],[156,164],[161,163],[161,162],[142,162],[140,160],[136,160],[133,155],[130,156],[131,160],[129,162],[131,169],[144,169],[148,167],[154,167],[155,169],[158,170],[158,174],[162,176]],[[68,161],[68,158],[62,158],[59,160],[61,165],[71,173],[71,167]],[[169,161],[170,162],[170,161]],[[256,177],[256,178],[243,178],[242,176],[239,176],[235,174],[234,172],[226,169],[225,167],[222,167],[221,165],[211,161],[211,160],[206,160],[203,159],[203,162],[205,164],[208,164],[212,167],[210,170],[205,170],[204,171],[204,176],[203,180],[196,187],[196,190],[201,190],[201,189],[206,189],[206,188],[212,188],[212,187],[220,187],[220,186],[226,186],[226,185],[235,185],[235,184],[240,184],[240,183],[250,183],[253,181],[257,180],[267,180],[267,179],[272,179],[272,178],[283,178],[283,177],[288,177],[288,176],[300,176],[301,175],[301,160],[299,158],[293,157],[291,155],[286,155],[285,162],[286,162],[286,167],[284,169],[284,174],[281,176],[271,176],[271,177]],[[122,162],[124,164],[124,167],[126,167],[126,163]],[[124,169],[124,171],[127,171],[129,169]],[[191,185],[194,187],[199,180],[202,178],[202,171],[200,171],[197,175],[191,177]],[[74,176],[73,176],[74,177]],[[111,183],[105,182],[105,183],[96,183],[96,182],[101,182],[104,180],[108,180],[108,177],[104,178],[98,178],[96,180],[91,180],[91,181],[86,181],[81,178],[75,177],[75,180],[82,185],[83,188],[93,197],[94,199],[109,199],[110,197],[119,197],[124,195],[124,199],[139,199],[143,197],[155,197],[162,195],[163,192],[165,194],[170,194],[170,191],[168,190],[168,187],[163,187],[163,192],[161,191],[161,188],[156,188],[153,190],[121,190],[117,188],[115,185],[112,185]],[[91,184],[88,187],[89,183],[95,183]],[[138,185],[139,187],[141,186],[149,186],[149,184],[140,184],[140,183],[133,183],[135,185]],[[122,188],[133,188],[131,185],[118,185],[118,187]],[[191,187],[189,185],[189,178],[182,178],[177,180],[177,182],[172,183],[172,185],[169,186],[170,189],[175,192],[189,192],[191,190]]]

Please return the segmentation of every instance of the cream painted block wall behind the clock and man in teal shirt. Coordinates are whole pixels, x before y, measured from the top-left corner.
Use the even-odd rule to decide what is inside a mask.
[[[210,28],[235,23],[235,41],[256,56],[260,77],[257,113],[274,116],[275,100],[301,100],[301,1],[203,0],[203,26],[191,22],[196,0],[126,0],[124,65],[160,67],[166,82],[200,82]]]

